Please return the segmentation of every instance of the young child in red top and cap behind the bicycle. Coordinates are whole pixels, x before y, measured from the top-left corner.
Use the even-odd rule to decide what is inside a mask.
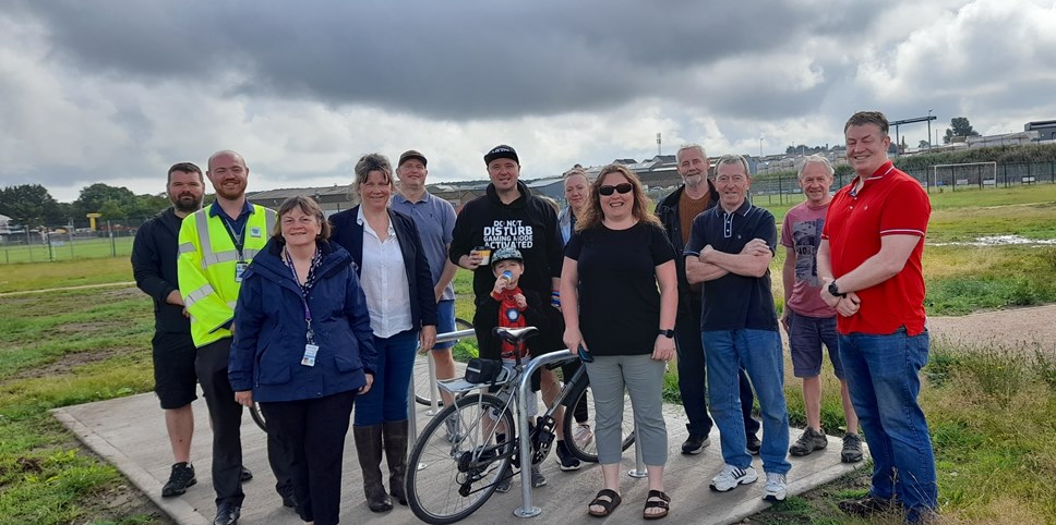
[[[542,301],[539,295],[530,290],[521,290],[517,285],[520,276],[525,272],[525,258],[520,251],[513,247],[496,249],[491,256],[491,270],[495,273],[495,286],[489,297],[479,306],[494,312],[491,318],[495,320],[495,327],[503,328],[524,328],[536,327],[540,331],[548,328],[547,317],[543,314]],[[487,327],[490,331],[492,327]],[[538,337],[533,339],[539,339]],[[517,349],[513,344],[499,338],[493,338],[493,347],[480,349],[480,356],[483,358],[501,358],[504,368],[512,369],[516,365]],[[527,352],[521,352],[519,357],[525,359],[531,354],[531,339],[528,340]],[[532,378],[532,391],[539,390],[539,381]],[[529,420],[533,420],[538,413],[538,400],[535,393],[526,400],[525,412]],[[500,428],[495,435],[496,441],[505,440],[506,429]],[[539,465],[531,466],[531,486],[542,487],[547,485],[547,478],[539,472]],[[506,492],[509,490],[509,478],[499,481],[495,490]]]

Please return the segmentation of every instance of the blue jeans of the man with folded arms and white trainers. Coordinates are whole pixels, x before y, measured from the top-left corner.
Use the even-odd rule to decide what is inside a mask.
[[[773,330],[716,330],[701,332],[708,359],[708,401],[711,417],[719,427],[722,460],[739,468],[752,465],[737,369],[744,367],[755,387],[763,415],[763,469],[787,474],[792,464],[789,451],[789,408],[784,403],[784,354],[781,335]]]

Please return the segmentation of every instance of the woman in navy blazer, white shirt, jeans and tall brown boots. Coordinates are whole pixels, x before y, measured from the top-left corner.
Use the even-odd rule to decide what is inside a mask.
[[[363,493],[373,512],[393,508],[382,485],[382,451],[389,492],[407,504],[407,390],[415,350],[436,341],[436,296],[413,219],[389,208],[393,167],[383,155],[356,163],[352,191],[360,205],[331,217],[334,242],[356,261],[370,310],[377,374],[374,388],[356,401],[352,436],[363,471]]]

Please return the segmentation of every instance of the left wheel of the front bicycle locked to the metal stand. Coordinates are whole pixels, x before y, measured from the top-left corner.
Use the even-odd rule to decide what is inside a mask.
[[[407,501],[419,520],[455,523],[484,504],[509,476],[514,450],[512,406],[491,394],[470,394],[444,408],[422,430],[408,459]],[[497,414],[497,420],[492,415]],[[448,439],[447,418],[453,417]],[[495,435],[506,440],[495,444]],[[417,468],[416,468],[417,467]]]

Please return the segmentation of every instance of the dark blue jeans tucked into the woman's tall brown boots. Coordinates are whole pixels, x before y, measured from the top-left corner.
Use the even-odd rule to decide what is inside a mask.
[[[404,330],[391,338],[374,338],[377,359],[370,391],[356,396],[357,427],[407,419],[410,373],[418,351],[418,330]]]

